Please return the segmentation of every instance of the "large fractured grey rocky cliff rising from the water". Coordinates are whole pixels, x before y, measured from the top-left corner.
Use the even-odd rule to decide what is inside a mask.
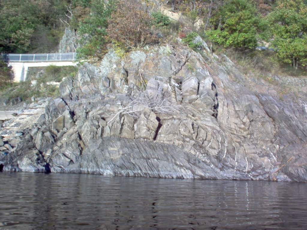
[[[39,122],[5,139],[13,151],[1,154],[2,169],[307,181],[306,101],[280,100],[203,48],[168,45],[123,59],[110,51],[84,63]]]

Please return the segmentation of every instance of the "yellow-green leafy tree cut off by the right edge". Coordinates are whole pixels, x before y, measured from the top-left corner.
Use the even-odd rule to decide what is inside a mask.
[[[302,0],[279,0],[267,17],[271,47],[294,68],[307,64],[307,5]]]

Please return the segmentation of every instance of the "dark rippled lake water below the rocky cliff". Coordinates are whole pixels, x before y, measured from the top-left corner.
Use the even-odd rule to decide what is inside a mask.
[[[0,229],[307,229],[307,184],[0,173]]]

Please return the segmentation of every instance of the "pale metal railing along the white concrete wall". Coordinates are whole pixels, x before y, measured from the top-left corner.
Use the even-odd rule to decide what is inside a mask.
[[[77,53],[49,53],[49,54],[3,54],[6,62],[46,62],[46,61],[74,61]]]

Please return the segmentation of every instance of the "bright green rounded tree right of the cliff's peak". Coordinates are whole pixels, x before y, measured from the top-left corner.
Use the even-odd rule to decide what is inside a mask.
[[[257,45],[260,17],[250,0],[227,0],[213,10],[209,38],[225,47],[253,48]]]

